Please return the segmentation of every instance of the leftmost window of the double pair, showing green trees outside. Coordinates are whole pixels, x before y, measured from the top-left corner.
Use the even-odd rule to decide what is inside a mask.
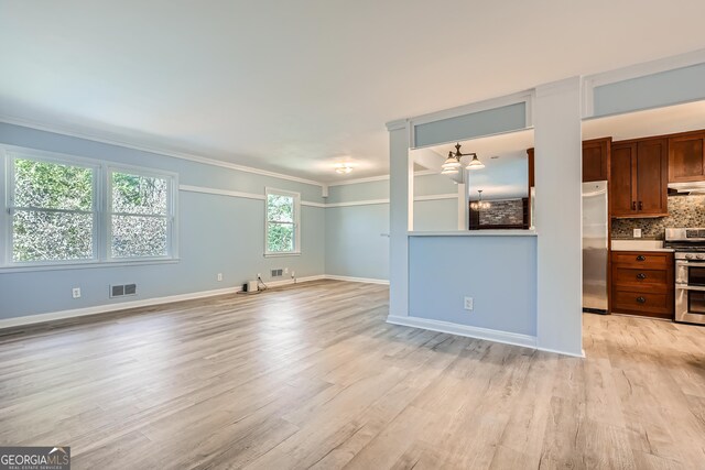
[[[11,261],[96,258],[96,168],[14,157],[11,164]]]

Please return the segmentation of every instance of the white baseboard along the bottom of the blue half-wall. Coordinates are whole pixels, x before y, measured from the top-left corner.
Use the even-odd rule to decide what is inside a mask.
[[[387,323],[392,325],[423,328],[432,331],[447,332],[451,335],[466,336],[468,338],[486,339],[489,341],[503,342],[506,345],[522,346],[524,348],[536,349],[535,336],[499,331],[480,327],[470,327],[467,325],[452,324],[449,321],[442,320],[431,320],[427,318],[403,317],[395,315],[388,316]]]

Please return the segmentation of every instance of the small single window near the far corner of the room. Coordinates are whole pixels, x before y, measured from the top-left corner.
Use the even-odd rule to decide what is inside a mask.
[[[264,254],[299,254],[301,196],[279,189],[267,189],[267,230]]]

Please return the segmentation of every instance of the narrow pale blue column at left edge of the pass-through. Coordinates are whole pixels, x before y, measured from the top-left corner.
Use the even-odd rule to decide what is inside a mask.
[[[413,230],[414,167],[409,157],[409,123],[389,130],[389,315],[409,316],[409,237]]]

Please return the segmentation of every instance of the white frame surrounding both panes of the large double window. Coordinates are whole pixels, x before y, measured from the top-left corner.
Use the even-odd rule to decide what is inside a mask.
[[[94,185],[94,255],[85,260],[43,260],[19,261],[12,259],[14,210],[14,160],[28,159],[93,168]],[[167,254],[163,256],[110,258],[111,227],[109,198],[111,197],[111,172],[124,172],[140,176],[166,178],[170,184],[167,199]],[[107,161],[84,159],[55,152],[44,152],[13,145],[0,145],[0,272],[62,270],[99,267],[112,265],[134,265],[178,262],[178,174],[141,166],[120,165]],[[65,212],[85,214],[82,210],[62,210]]]

